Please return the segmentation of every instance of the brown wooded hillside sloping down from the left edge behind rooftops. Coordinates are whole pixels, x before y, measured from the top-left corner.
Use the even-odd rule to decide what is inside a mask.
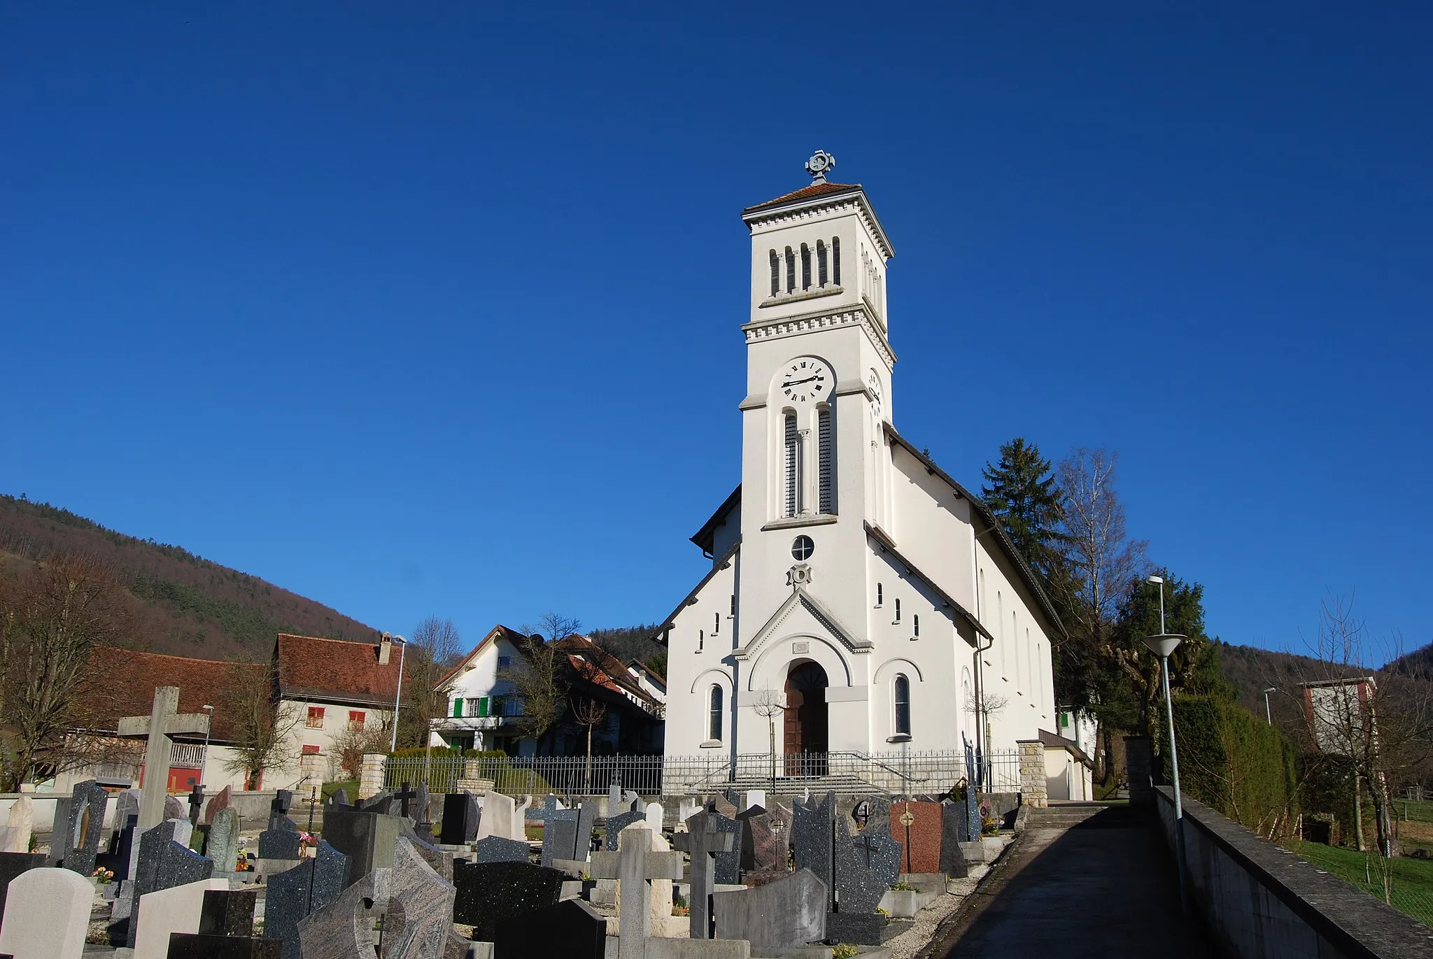
[[[49,503],[0,495],[0,569],[76,552],[110,563],[129,585],[139,616],[135,647],[179,657],[268,657],[274,636],[294,632],[368,639],[374,629],[258,576],[201,559],[179,546],[136,539]]]

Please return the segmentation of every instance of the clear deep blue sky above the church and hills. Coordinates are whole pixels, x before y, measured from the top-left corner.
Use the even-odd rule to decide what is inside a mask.
[[[1212,634],[1433,639],[1427,7],[481,6],[0,3],[0,490],[378,628],[659,619],[823,148],[957,479],[1109,446]]]

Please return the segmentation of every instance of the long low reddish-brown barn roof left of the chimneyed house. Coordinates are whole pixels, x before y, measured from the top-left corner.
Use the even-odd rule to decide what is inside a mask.
[[[115,647],[97,647],[90,661],[105,675],[110,691],[106,712],[113,712],[109,728],[126,715],[149,715],[155,705],[155,690],[179,687],[179,711],[199,712],[199,707],[212,705],[214,727],[211,738],[215,743],[232,743],[236,734],[232,717],[224,710],[225,694],[234,687],[238,671],[261,672],[267,664],[222,662],[218,659],[189,659],[166,657],[158,652],[136,652]]]

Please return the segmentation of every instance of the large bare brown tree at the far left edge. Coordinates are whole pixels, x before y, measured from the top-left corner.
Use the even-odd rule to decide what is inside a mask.
[[[113,572],[60,555],[0,581],[0,786],[105,761],[125,744],[77,735],[106,724],[113,701],[92,652],[128,638],[129,608]]]

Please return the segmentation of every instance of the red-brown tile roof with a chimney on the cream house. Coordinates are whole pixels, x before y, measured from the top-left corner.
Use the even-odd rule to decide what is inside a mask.
[[[377,642],[278,634],[278,688],[291,700],[387,705],[398,690],[403,647],[378,665]]]

